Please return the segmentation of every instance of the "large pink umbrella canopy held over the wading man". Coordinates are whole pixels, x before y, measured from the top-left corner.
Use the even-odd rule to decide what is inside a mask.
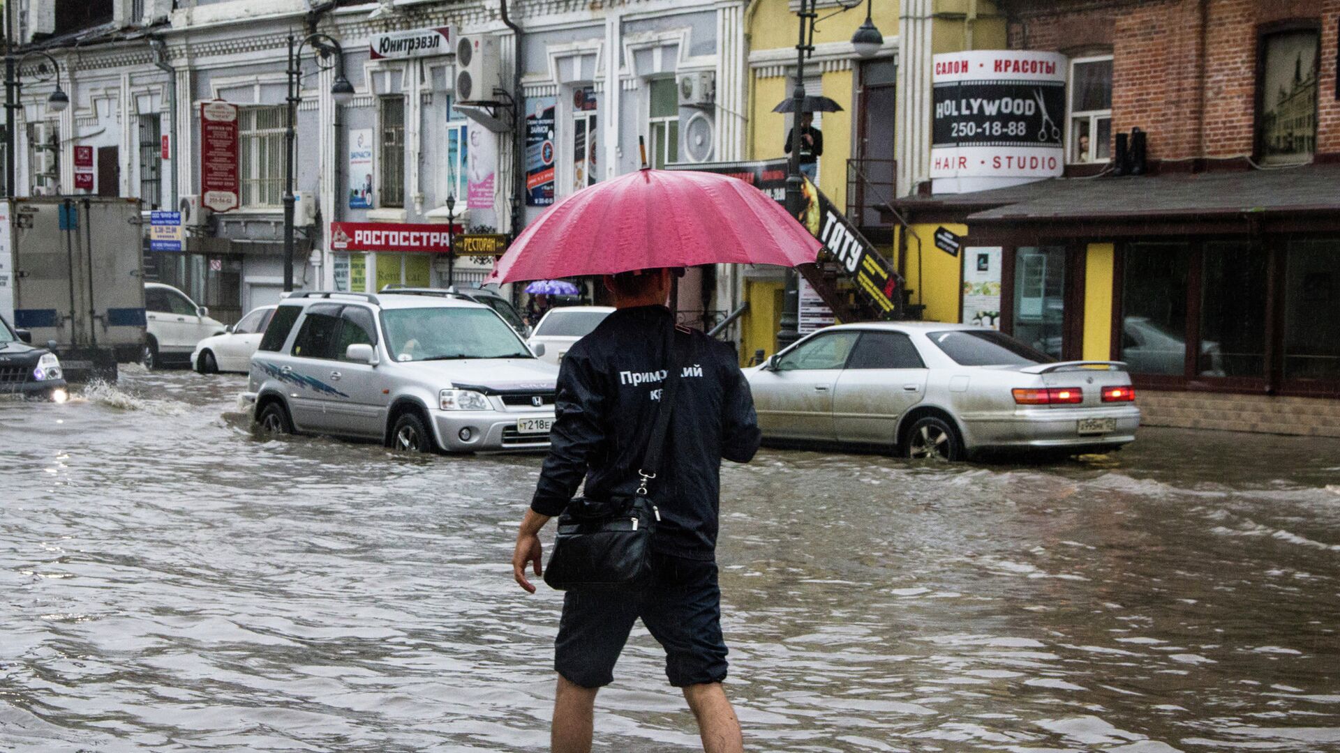
[[[738,178],[638,170],[582,189],[531,222],[490,283],[616,275],[698,264],[813,263],[820,243]]]

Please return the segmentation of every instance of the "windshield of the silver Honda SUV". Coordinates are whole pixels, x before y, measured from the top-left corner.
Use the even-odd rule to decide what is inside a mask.
[[[488,308],[383,310],[382,328],[395,360],[535,358],[516,332]]]

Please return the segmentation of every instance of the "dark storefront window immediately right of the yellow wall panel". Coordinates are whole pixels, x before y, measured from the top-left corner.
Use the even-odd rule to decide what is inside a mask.
[[[1122,279],[1122,360],[1135,374],[1186,374],[1190,247],[1136,243]]]

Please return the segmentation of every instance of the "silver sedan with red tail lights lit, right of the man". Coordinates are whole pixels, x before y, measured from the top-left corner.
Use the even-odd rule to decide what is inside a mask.
[[[820,330],[746,368],[764,439],[961,460],[980,450],[1108,452],[1135,439],[1126,364],[1053,362],[965,324]]]

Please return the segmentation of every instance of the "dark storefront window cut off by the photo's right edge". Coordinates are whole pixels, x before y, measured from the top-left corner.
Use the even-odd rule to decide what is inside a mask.
[[[1293,241],[1285,272],[1285,379],[1340,379],[1340,238]]]

